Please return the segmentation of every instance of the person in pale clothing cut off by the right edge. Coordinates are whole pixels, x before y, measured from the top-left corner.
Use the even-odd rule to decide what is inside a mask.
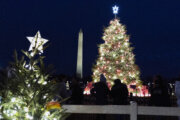
[[[175,94],[177,98],[177,105],[178,107],[180,107],[180,78],[178,78],[175,83]],[[180,117],[179,117],[179,120],[180,120]]]

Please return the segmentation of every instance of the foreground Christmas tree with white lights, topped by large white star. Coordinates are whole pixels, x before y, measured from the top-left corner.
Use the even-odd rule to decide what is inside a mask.
[[[1,117],[5,120],[63,120],[64,109],[55,97],[55,84],[49,79],[49,68],[43,59],[43,45],[48,41],[41,38],[40,32],[35,37],[27,37],[31,42],[29,51],[23,51],[26,57],[11,63],[11,75],[6,79],[0,92]]]

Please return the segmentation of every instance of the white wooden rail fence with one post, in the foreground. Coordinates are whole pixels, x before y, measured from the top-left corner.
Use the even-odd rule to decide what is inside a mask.
[[[178,107],[150,107],[130,105],[64,105],[67,113],[76,114],[129,114],[130,120],[137,120],[137,115],[180,116]]]

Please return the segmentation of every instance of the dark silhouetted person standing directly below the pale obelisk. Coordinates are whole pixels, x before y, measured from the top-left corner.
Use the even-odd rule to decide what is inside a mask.
[[[82,104],[83,102],[83,89],[79,84],[79,80],[76,78],[72,79],[71,89],[71,102],[72,104]]]

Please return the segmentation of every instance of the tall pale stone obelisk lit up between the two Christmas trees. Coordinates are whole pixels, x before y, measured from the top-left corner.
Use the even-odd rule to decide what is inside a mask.
[[[83,77],[83,32],[82,30],[79,31],[76,76],[81,79]]]

